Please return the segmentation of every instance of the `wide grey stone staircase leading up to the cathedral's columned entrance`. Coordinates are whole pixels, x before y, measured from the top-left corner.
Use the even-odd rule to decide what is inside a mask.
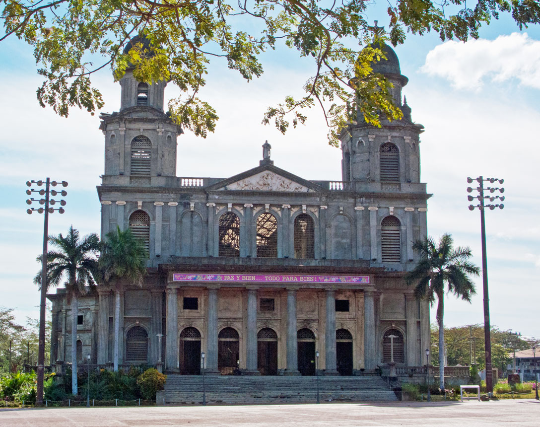
[[[205,376],[207,404],[315,403],[316,377]],[[321,402],[397,401],[381,377],[319,377]],[[167,375],[165,403],[203,403],[203,377]],[[161,402],[159,402],[161,403]]]

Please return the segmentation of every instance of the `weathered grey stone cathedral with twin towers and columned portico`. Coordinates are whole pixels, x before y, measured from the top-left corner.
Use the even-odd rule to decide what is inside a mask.
[[[141,288],[120,290],[120,365],[165,372],[362,375],[426,364],[429,303],[404,274],[427,235],[420,133],[402,101],[395,52],[375,64],[394,85],[401,121],[358,117],[341,134],[340,181],[280,169],[271,146],[228,178],[176,176],[182,130],[163,110],[165,83],[120,81],[120,111],[103,114],[101,235],[131,228],[149,251]],[[204,172],[204,171],[201,171]],[[114,292],[79,300],[77,357],[111,364]],[[71,311],[52,301],[51,361],[70,362]],[[204,353],[204,363],[201,363]]]

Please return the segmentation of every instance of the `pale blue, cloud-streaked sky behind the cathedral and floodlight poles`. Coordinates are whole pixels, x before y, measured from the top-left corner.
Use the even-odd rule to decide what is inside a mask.
[[[387,25],[373,8],[369,20]],[[444,232],[469,245],[481,265],[480,215],[467,209],[468,176],[504,178],[505,209],[487,212],[491,323],[502,329],[540,337],[540,192],[532,172],[538,167],[540,123],[540,31],[519,31],[503,17],[481,30],[481,39],[442,43],[436,34],[409,35],[397,47],[401,71],[409,78],[404,95],[414,121],[426,127],[421,136],[422,182],[434,196],[428,202],[428,230]],[[301,94],[309,77],[309,59],[284,49],[264,55],[265,74],[245,83],[214,64],[203,92],[218,110],[217,130],[207,139],[186,134],[178,140],[178,176],[227,177],[258,165],[261,145],[272,144],[280,168],[307,179],[341,179],[340,151],[326,142],[319,111],[309,112],[306,126],[285,136],[261,125],[269,105],[285,95]],[[43,216],[27,215],[28,179],[69,182],[66,213],[50,217],[50,233],[70,224],[82,234],[99,231],[96,193],[103,173],[103,135],[99,119],[73,110],[68,119],[38,106],[41,83],[32,49],[15,38],[0,43],[0,305],[15,308],[18,321],[37,317],[39,296],[32,277],[39,269]],[[103,90],[105,112],[119,108],[120,88],[110,71],[95,76]],[[176,90],[168,87],[166,95]],[[482,323],[482,281],[472,304],[448,297],[445,322],[450,326]],[[434,313],[432,321],[434,322]]]

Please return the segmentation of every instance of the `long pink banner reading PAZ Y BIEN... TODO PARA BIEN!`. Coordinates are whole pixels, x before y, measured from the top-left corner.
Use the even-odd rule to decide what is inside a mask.
[[[173,282],[255,283],[369,283],[369,276],[303,276],[274,274],[190,274],[173,273]]]

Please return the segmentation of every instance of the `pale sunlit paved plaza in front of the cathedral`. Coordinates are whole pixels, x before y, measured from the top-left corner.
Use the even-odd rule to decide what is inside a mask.
[[[43,408],[0,410],[2,427],[256,427],[540,425],[534,399],[452,403]]]

